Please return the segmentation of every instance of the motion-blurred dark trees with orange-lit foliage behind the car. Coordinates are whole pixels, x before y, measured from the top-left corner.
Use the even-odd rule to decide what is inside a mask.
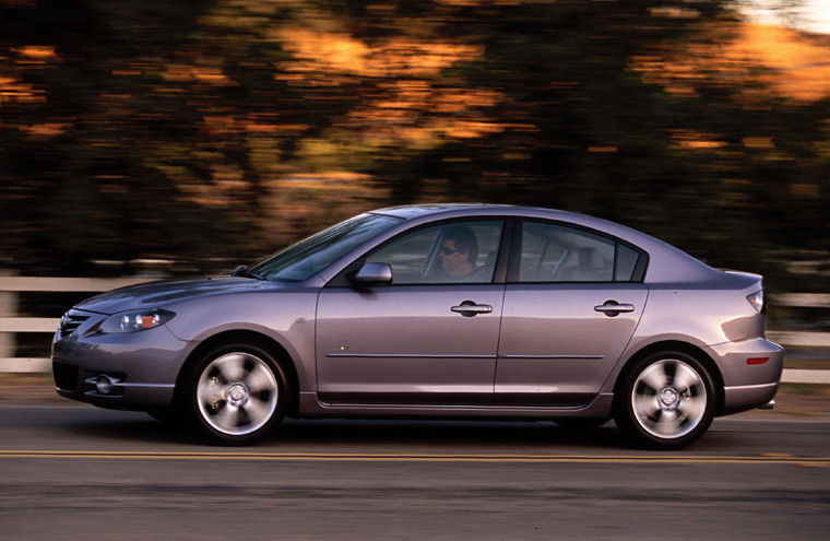
[[[4,275],[227,272],[439,201],[830,291],[830,1],[0,0]],[[773,325],[830,330],[810,298]]]

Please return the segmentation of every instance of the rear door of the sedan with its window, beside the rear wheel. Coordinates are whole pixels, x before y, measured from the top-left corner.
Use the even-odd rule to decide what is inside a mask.
[[[622,354],[648,290],[637,249],[593,232],[526,221],[517,234],[496,371],[499,404],[590,402]]]

